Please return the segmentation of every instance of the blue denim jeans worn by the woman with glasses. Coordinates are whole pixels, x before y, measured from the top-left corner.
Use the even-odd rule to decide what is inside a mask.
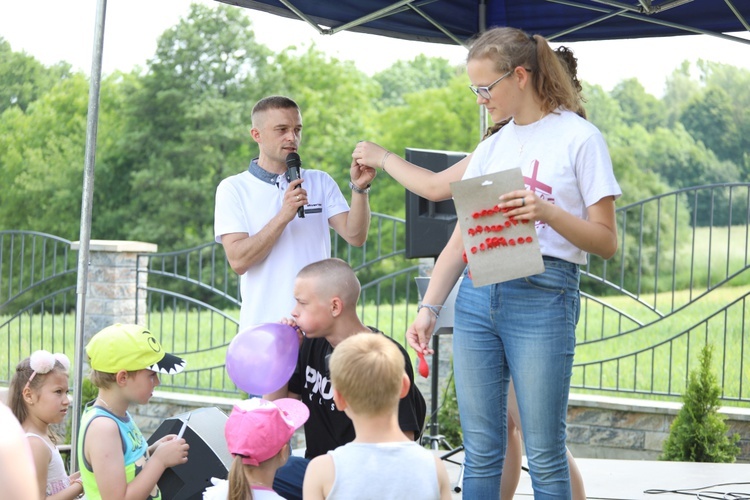
[[[569,499],[565,419],[580,310],[578,266],[544,258],[527,278],[459,288],[453,331],[464,436],[464,497],[497,500],[507,441],[510,376],[516,388],[534,498]]]

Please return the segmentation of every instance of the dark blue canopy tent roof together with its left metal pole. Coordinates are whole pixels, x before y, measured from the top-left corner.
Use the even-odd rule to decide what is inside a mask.
[[[512,26],[557,42],[706,34],[750,44],[728,33],[750,32],[750,0],[217,0],[301,19],[323,35],[349,30],[407,40],[466,45],[476,33]],[[76,283],[76,351],[72,442],[80,419],[83,332],[107,0],[97,1],[81,232]],[[76,447],[71,450],[76,462]]]

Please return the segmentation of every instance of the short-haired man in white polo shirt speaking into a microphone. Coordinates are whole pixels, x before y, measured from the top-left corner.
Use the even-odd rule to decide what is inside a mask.
[[[219,184],[214,211],[216,242],[240,275],[240,331],[289,315],[297,272],[331,256],[329,228],[351,245],[364,244],[376,173],[352,162],[350,208],[328,173],[300,169],[302,115],[288,97],[258,101],[250,135],[259,156]]]

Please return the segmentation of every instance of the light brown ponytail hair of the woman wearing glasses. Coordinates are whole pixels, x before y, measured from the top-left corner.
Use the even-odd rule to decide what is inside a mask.
[[[561,107],[573,112],[579,110],[578,93],[570,75],[541,35],[529,36],[516,28],[492,28],[481,33],[471,45],[466,60],[476,59],[489,59],[499,73],[519,66],[526,68],[547,113]]]

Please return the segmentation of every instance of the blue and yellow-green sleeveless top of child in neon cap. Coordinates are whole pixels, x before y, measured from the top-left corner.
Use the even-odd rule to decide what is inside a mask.
[[[78,436],[78,468],[81,471],[81,481],[83,491],[87,500],[100,500],[101,493],[96,485],[95,471],[92,470],[91,464],[86,460],[83,454],[84,444],[86,442],[86,431],[95,418],[110,418],[117,423],[120,431],[120,440],[122,441],[122,453],[125,461],[125,479],[129,483],[135,478],[148,460],[148,443],[141,434],[138,426],[135,425],[130,413],[125,413],[125,418],[118,417],[109,410],[101,406],[89,407],[81,417],[81,432]],[[159,487],[154,485],[151,494],[145,500],[161,500]]]

